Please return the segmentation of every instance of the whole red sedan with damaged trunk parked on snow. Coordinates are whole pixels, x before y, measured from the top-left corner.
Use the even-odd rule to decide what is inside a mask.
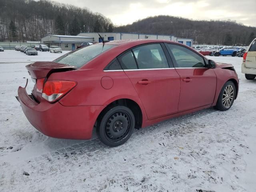
[[[18,88],[29,122],[54,138],[90,139],[96,127],[108,146],[134,128],[214,106],[228,110],[238,94],[231,64],[216,64],[166,40],[120,40],[26,66],[32,93]]]

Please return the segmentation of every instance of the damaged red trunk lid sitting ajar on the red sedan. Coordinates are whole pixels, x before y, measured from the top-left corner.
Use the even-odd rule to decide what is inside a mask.
[[[26,66],[28,73],[33,79],[41,79],[49,76],[52,72],[69,71],[77,69],[75,66],[55,62],[34,62]]]

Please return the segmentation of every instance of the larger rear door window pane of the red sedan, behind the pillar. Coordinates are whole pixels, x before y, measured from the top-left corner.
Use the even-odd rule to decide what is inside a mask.
[[[169,68],[160,44],[148,44],[132,50],[139,69]]]

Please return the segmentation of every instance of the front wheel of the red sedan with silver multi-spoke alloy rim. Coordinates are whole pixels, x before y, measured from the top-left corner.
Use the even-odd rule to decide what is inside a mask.
[[[222,87],[215,109],[220,111],[229,110],[236,96],[236,86],[232,81],[228,81]]]

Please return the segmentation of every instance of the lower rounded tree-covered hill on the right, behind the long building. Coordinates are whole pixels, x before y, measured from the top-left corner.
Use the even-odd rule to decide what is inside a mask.
[[[193,38],[198,44],[248,45],[256,36],[256,28],[234,21],[189,20],[174,16],[154,16],[119,26],[115,32],[170,34]]]

